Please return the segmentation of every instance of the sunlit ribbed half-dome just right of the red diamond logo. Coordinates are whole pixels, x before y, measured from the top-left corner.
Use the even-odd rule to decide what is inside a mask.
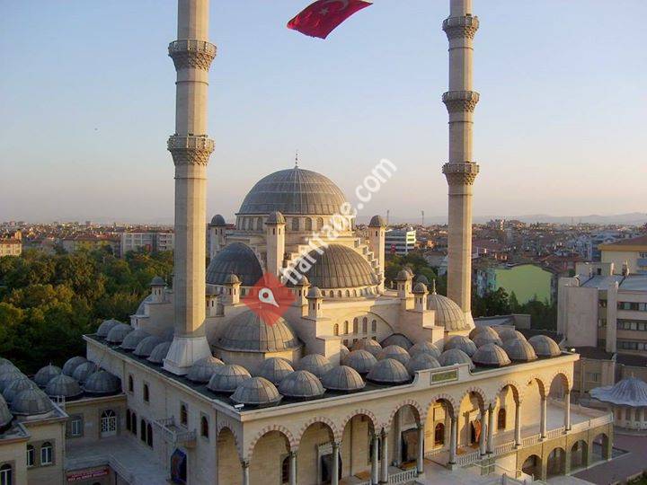
[[[329,244],[310,251],[304,258],[310,265],[305,275],[315,287],[329,289],[377,285],[377,276],[371,265],[348,246]]]

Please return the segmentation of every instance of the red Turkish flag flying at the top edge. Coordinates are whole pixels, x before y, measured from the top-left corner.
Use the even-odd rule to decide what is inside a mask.
[[[288,29],[325,39],[353,13],[372,5],[364,0],[317,0],[288,22]]]

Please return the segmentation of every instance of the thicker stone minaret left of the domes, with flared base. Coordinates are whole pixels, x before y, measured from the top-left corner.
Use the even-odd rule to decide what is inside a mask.
[[[208,0],[178,1],[178,40],[168,47],[177,71],[175,133],[168,150],[175,164],[174,336],[164,369],[184,375],[211,355],[204,329],[208,69],[216,46],[208,42]]]

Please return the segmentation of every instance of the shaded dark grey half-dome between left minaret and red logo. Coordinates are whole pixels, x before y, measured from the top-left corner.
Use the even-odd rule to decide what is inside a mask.
[[[209,285],[225,285],[226,278],[235,274],[244,287],[253,287],[262,277],[261,263],[252,248],[243,242],[232,242],[218,252],[207,268]]]

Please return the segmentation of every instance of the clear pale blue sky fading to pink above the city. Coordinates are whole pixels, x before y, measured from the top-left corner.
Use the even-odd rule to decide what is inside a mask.
[[[327,40],[309,0],[211,0],[208,214],[293,165],[364,216],[447,212],[448,0],[376,0]],[[0,220],[173,220],[172,0],[1,0]],[[645,211],[644,0],[474,0],[475,215]],[[352,198],[351,198],[352,199]]]

